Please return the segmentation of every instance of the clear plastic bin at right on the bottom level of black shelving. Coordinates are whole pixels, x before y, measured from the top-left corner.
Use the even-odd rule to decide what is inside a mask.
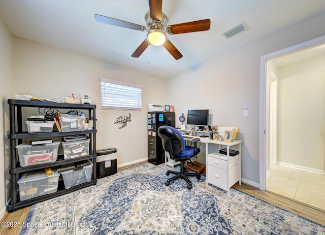
[[[80,167],[80,169],[69,170],[61,172],[64,187],[66,189],[74,187],[79,184],[90,182],[92,172],[92,162],[87,160],[90,164]]]

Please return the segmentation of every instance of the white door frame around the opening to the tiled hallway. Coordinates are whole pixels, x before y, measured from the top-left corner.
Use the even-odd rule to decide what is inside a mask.
[[[259,79],[259,189],[265,190],[266,189],[266,157],[269,155],[269,153],[266,153],[266,149],[269,149],[268,142],[266,142],[266,135],[269,135],[269,133],[265,133],[266,126],[269,125],[269,123],[266,123],[267,117],[266,117],[266,110],[269,109],[269,107],[266,107],[266,94],[269,94],[269,91],[267,91],[269,86],[267,85],[267,61],[269,59],[273,59],[280,55],[290,54],[293,52],[297,52],[302,49],[306,49],[309,47],[315,47],[318,45],[322,45],[325,43],[325,36],[321,36],[291,47],[284,48],[279,51],[275,51],[266,55],[261,56],[261,69],[260,69],[260,79]],[[266,148],[267,147],[267,148]]]

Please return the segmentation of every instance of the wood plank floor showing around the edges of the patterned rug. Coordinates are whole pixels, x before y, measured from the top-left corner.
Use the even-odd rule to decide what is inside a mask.
[[[119,169],[120,170],[120,169]],[[261,191],[258,188],[252,187],[250,185],[243,184],[239,185],[238,183],[234,185],[234,188],[241,190],[247,194],[253,195],[257,198],[261,198],[268,203],[274,204],[280,208],[283,208],[287,211],[298,214],[304,218],[315,221],[322,225],[325,225],[325,211],[322,211],[317,208],[313,208],[311,206],[305,205],[303,203],[297,202],[293,199],[286,198],[284,196],[277,195],[273,192],[269,191]],[[8,213],[4,215],[1,219],[1,222],[13,222],[22,224],[27,217],[30,206],[19,209],[15,212]],[[10,223],[9,223],[10,225]],[[12,224],[13,225],[13,224]],[[0,234],[19,234],[22,226],[0,226]]]

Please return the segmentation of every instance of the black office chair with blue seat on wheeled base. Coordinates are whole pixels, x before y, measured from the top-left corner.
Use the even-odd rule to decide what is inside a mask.
[[[191,157],[196,156],[201,150],[197,147],[197,142],[199,138],[191,139],[194,147],[186,146],[184,138],[180,132],[172,126],[160,126],[158,128],[158,135],[163,142],[163,148],[165,151],[169,152],[171,159],[181,162],[180,172],[170,171],[166,172],[169,176],[170,173],[176,175],[166,181],[166,186],[170,185],[170,182],[178,178],[183,178],[187,182],[187,188],[192,188],[192,183],[187,178],[187,176],[196,176],[198,180],[201,179],[200,173],[190,173],[186,172],[184,168],[184,162],[189,160]],[[191,162],[191,161],[190,161]],[[193,164],[193,163],[192,163]]]

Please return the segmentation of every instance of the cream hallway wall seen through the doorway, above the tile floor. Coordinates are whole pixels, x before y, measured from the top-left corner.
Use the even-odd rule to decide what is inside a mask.
[[[278,161],[324,170],[325,56],[278,68]]]

